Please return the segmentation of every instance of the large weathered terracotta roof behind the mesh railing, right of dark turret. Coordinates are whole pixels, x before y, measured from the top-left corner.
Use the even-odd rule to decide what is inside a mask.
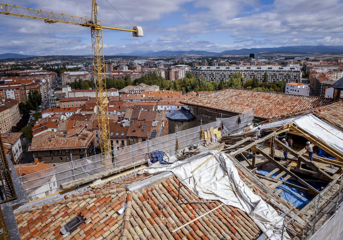
[[[332,101],[330,98],[300,96],[284,93],[228,88],[208,95],[181,101],[186,105],[201,106],[225,112],[255,111],[255,117],[271,119],[305,111]]]

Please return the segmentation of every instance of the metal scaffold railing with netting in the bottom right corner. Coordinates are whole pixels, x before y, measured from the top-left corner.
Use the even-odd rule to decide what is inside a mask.
[[[340,203],[340,193],[342,191],[342,180],[343,180],[343,173],[336,178],[335,180],[333,180],[329,185],[327,185],[327,187],[322,190],[321,192],[318,193],[317,196],[314,197],[314,199],[312,199],[304,208],[302,208],[296,215],[294,215],[292,218],[290,218],[288,221],[283,220],[283,224],[282,226],[277,229],[271,236],[269,236],[269,238],[267,240],[270,240],[274,237],[275,234],[277,233],[281,233],[282,237],[281,240],[286,239],[284,237],[284,232],[287,229],[290,232],[293,232],[295,235],[299,236],[299,238],[301,240],[309,238],[310,236],[312,236],[315,231],[316,231],[316,225],[318,223],[318,216],[320,215],[320,208],[323,208],[325,206],[327,206],[328,203],[333,203],[334,204],[334,208],[335,211],[333,212],[332,216],[333,217],[339,207],[341,207],[341,203]],[[339,182],[339,189],[334,189],[333,185]],[[336,193],[336,196],[333,197],[333,199],[328,199],[327,197],[324,197],[323,195],[328,192],[328,191],[334,191],[334,193]],[[321,202],[322,201],[322,202]],[[323,203],[324,202],[324,203]],[[320,205],[320,203],[322,203]],[[309,229],[308,231],[302,230],[301,232],[296,231],[295,229],[289,227],[289,225],[293,225],[293,220],[294,218],[296,218],[298,215],[303,215],[306,212],[309,211],[309,209],[315,209],[315,215],[313,219],[308,219],[310,221],[311,224],[313,224],[311,226],[311,229]]]

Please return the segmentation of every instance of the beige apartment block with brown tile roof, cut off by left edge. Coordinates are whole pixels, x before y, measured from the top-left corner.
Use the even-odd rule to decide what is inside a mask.
[[[2,98],[0,100],[0,132],[5,133],[11,130],[20,120],[18,101]]]

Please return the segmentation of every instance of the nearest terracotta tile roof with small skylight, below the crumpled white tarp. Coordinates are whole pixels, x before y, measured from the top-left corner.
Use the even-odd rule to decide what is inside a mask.
[[[246,213],[226,205],[172,233],[221,203],[182,204],[205,199],[181,185],[179,205],[176,200],[179,182],[173,176],[132,193],[125,189],[146,177],[137,175],[135,180],[134,176],[127,176],[66,195],[58,202],[16,212],[20,235],[22,239],[63,239],[61,228],[78,215],[85,222],[65,239],[238,240],[260,235],[260,229]],[[118,213],[124,206],[125,211]]]

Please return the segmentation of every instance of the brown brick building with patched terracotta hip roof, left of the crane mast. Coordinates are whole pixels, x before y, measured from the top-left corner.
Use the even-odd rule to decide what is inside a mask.
[[[45,163],[66,163],[94,155],[94,133],[83,127],[72,128],[67,134],[46,131],[32,138],[28,151]]]

